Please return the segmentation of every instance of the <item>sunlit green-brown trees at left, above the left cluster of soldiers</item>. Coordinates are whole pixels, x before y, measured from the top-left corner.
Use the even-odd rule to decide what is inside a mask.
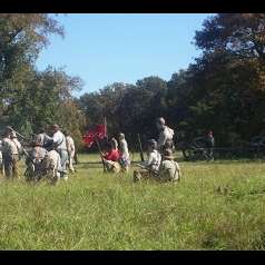
[[[48,14],[0,14],[0,129],[11,125],[29,137],[57,122],[71,130],[81,146],[85,118],[72,91],[81,89],[82,81],[61,69],[36,69],[50,35],[63,37],[63,29]]]

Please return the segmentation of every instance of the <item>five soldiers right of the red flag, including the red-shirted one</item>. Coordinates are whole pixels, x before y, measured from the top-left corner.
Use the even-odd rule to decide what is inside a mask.
[[[174,130],[166,126],[164,118],[156,121],[159,130],[159,138],[147,141],[147,160],[137,164],[139,169],[134,171],[134,181],[144,178],[153,178],[161,181],[179,180],[180,167],[174,158]],[[107,171],[119,173],[128,171],[130,157],[128,145],[124,134],[118,135],[119,143],[111,138],[107,153],[101,153],[104,166]]]

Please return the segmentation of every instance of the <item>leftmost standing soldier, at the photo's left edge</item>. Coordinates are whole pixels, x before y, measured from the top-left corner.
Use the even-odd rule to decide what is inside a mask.
[[[9,129],[3,135],[2,158],[4,176],[7,178],[18,177],[19,153],[16,144],[11,140],[11,131]]]

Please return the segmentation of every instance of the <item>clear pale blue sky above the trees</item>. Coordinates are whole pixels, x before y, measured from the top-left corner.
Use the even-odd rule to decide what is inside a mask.
[[[85,86],[77,96],[115,81],[135,84],[148,76],[169,80],[200,55],[190,42],[208,16],[59,14],[66,36],[50,37],[37,67],[65,67],[67,73],[79,76]]]

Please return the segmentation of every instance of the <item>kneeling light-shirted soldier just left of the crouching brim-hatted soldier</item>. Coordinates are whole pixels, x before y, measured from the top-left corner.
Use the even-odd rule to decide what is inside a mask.
[[[157,150],[157,143],[154,139],[147,143],[148,160],[139,164],[143,168],[134,171],[134,181],[138,181],[141,178],[157,178],[159,174],[159,166],[161,163],[161,155]]]

